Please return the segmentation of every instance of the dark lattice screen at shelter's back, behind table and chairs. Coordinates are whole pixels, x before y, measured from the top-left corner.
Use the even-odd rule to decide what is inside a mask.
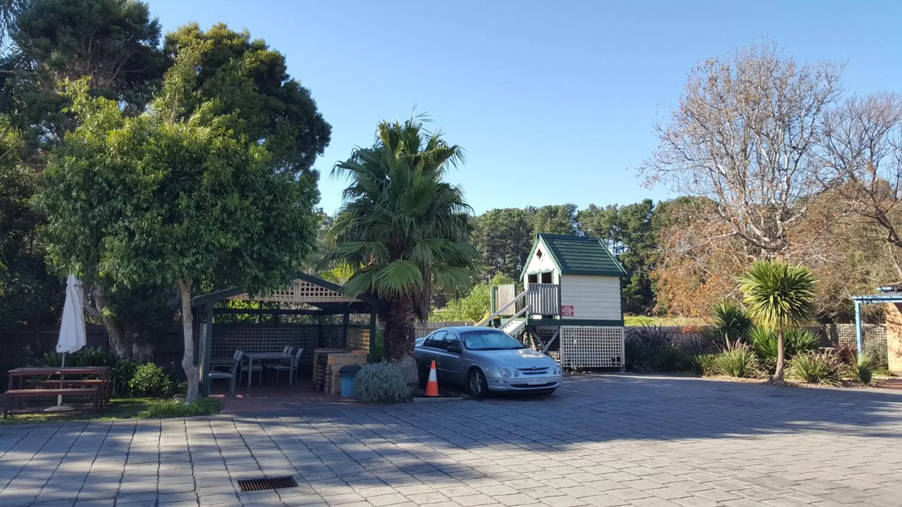
[[[316,325],[281,327],[248,326],[239,324],[213,324],[213,358],[230,358],[235,349],[245,352],[272,352],[290,345],[304,348],[300,364],[313,364],[313,349],[319,347]],[[341,330],[338,330],[341,333]]]

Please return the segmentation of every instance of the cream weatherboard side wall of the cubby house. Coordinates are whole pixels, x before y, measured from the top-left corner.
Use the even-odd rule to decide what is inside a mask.
[[[562,319],[620,321],[621,292],[618,276],[561,276],[561,306],[573,306],[573,316]]]

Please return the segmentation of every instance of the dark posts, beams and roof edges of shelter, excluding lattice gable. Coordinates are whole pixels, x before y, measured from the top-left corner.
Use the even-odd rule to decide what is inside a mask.
[[[345,287],[333,284],[318,276],[299,273],[293,277],[295,280],[302,280],[309,284],[318,285],[339,294],[345,294]],[[379,313],[379,301],[368,294],[359,294],[354,297],[346,297],[347,301],[304,301],[303,298],[293,298],[293,303],[303,303],[316,309],[265,309],[265,308],[216,308],[216,303],[227,298],[233,298],[241,294],[246,294],[244,287],[231,287],[220,291],[201,294],[191,298],[191,308],[203,312],[203,320],[196,320],[204,324],[201,332],[198,333],[198,367],[201,375],[201,391],[206,396],[210,390],[210,378],[207,375],[210,368],[210,359],[213,346],[213,319],[216,313],[219,314],[247,314],[247,315],[315,315],[320,318],[327,315],[343,315],[342,326],[344,330],[345,340],[347,340],[347,330],[350,323],[350,315],[369,313],[370,314],[370,350],[369,357],[373,360],[373,352],[376,343],[376,315]],[[248,301],[273,301],[271,298],[260,295],[256,298],[248,297]]]

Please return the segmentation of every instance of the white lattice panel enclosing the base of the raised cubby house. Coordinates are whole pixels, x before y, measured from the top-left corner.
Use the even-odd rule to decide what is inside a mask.
[[[563,367],[622,367],[623,328],[561,326]]]

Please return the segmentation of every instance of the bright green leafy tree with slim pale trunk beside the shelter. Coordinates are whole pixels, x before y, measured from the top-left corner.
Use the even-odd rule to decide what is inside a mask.
[[[160,93],[133,117],[91,98],[86,81],[70,82],[81,124],[51,158],[40,196],[56,266],[117,285],[178,287],[189,401],[200,380],[194,288],[284,285],[312,251],[319,221],[309,180],[274,169],[265,147],[235,133],[240,115],[203,100],[195,71],[208,48],[180,50]]]

